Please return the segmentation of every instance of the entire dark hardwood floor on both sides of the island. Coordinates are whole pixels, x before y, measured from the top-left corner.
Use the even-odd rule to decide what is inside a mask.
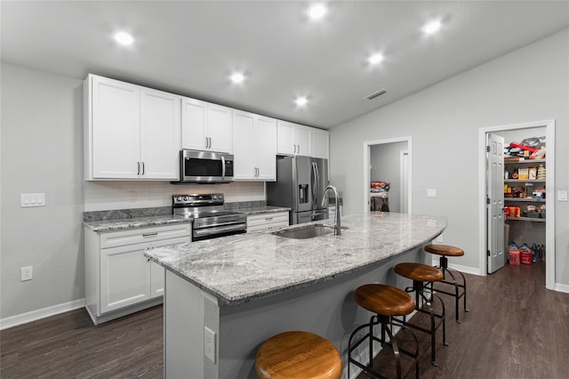
[[[461,313],[461,324],[444,296],[450,345],[437,343],[438,367],[430,365],[429,336],[416,332],[421,378],[568,378],[569,294],[547,290],[544,269],[541,263],[467,275],[470,312]],[[74,310],[5,329],[0,377],[160,378],[162,330],[162,307],[98,327],[85,310]],[[374,365],[381,367],[387,352]]]

